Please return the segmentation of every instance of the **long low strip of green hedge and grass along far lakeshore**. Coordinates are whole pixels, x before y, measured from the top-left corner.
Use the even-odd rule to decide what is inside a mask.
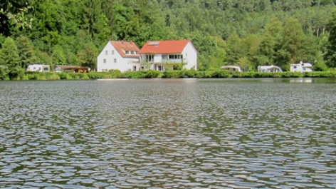
[[[91,73],[25,73],[13,80],[83,80],[98,78],[335,78],[336,71],[314,71],[307,73],[282,72],[231,72],[231,71],[120,71],[91,72]],[[9,80],[9,76],[0,77],[0,80]]]

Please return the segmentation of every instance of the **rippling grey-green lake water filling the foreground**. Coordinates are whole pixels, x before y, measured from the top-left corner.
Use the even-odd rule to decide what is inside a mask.
[[[335,78],[0,82],[0,188],[336,188]]]

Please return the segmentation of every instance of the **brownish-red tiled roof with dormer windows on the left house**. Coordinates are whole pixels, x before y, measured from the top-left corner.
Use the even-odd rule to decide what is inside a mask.
[[[115,50],[124,58],[139,58],[139,54],[131,54],[132,51],[139,52],[140,49],[133,41],[110,41],[110,44],[115,47]],[[130,54],[126,54],[125,51],[129,51]]]

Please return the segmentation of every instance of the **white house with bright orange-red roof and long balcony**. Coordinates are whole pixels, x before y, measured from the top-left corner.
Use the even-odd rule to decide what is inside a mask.
[[[198,52],[190,40],[147,41],[139,54],[143,69],[165,71],[183,66],[197,70]]]

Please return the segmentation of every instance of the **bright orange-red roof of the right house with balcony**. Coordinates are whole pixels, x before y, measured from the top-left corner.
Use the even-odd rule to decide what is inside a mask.
[[[190,40],[147,41],[139,53],[182,53]]]

